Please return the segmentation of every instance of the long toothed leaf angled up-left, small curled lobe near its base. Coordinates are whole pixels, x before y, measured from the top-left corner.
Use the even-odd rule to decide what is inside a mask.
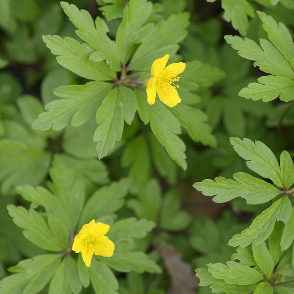
[[[97,51],[91,53],[89,60],[101,61],[106,59],[107,64],[115,71],[120,71],[120,62],[117,58],[118,50],[116,44],[108,36],[108,27],[103,19],[96,18],[95,25],[92,16],[88,11],[81,11],[74,5],[67,2],[60,2],[69,20],[78,28],[76,34]],[[97,60],[94,56],[99,55]]]

